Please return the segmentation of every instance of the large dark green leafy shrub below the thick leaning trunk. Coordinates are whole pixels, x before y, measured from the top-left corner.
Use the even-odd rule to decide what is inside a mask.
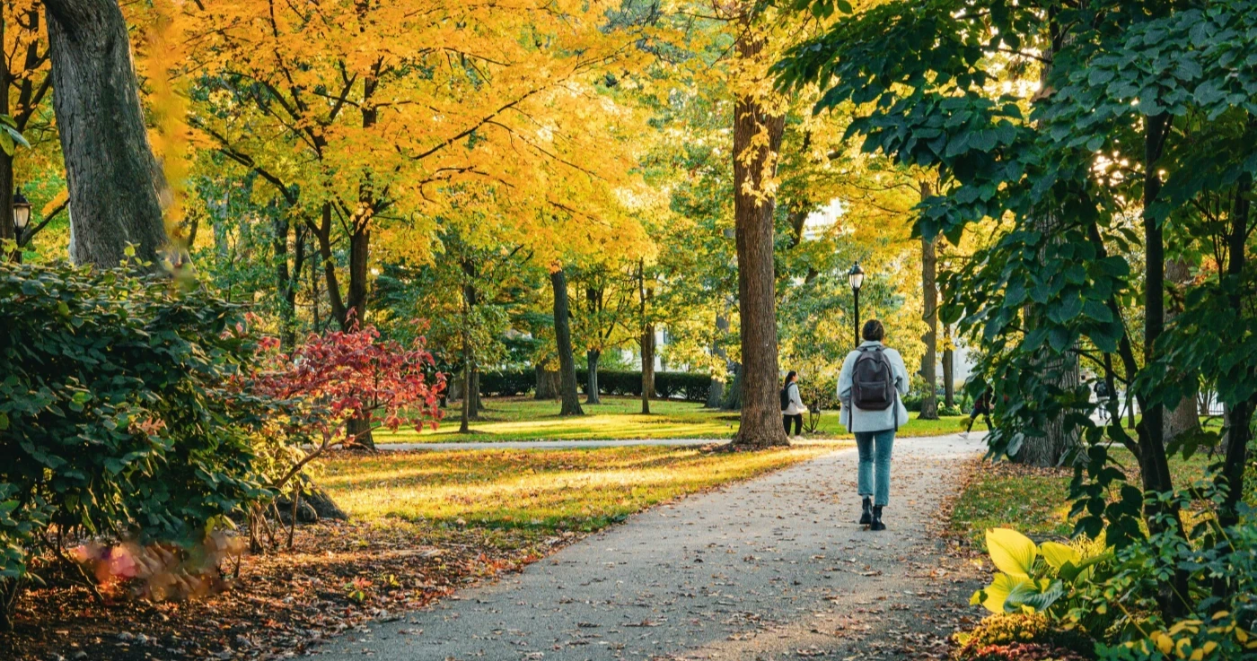
[[[192,544],[265,495],[244,310],[168,279],[0,263],[0,597],[77,534]],[[0,609],[3,611],[3,609]],[[0,612],[0,625],[6,613]]]

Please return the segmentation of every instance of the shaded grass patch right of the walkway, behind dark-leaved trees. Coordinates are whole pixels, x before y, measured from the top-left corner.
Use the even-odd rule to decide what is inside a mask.
[[[1111,450],[1124,466],[1130,484],[1139,486],[1139,465],[1125,449]],[[1185,488],[1202,479],[1209,459],[1197,454],[1190,460],[1170,457],[1174,484]],[[957,499],[950,528],[985,550],[988,528],[1013,528],[1036,540],[1067,538],[1073,532],[1070,519],[1068,469],[1036,469],[1007,461],[983,462]]]

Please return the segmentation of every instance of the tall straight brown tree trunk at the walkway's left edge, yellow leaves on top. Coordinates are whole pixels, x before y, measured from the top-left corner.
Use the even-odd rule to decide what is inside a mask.
[[[748,24],[739,30],[734,48],[740,59],[754,62],[764,48],[764,38],[750,29],[749,20],[744,19]],[[744,90],[733,107],[734,226],[742,314],[742,425],[733,445],[739,449],[789,445],[777,392],[776,197],[768,186],[777,170],[786,118],[774,114],[758,94]]]

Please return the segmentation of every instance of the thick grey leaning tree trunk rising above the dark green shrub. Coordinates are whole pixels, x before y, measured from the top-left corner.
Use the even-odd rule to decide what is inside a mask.
[[[70,256],[117,266],[132,244],[136,258],[158,265],[168,243],[158,197],[163,181],[140,109],[122,10],[116,0],[44,6],[70,194]]]

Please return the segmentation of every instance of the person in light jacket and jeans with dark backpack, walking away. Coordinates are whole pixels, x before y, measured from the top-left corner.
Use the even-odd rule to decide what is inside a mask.
[[[856,435],[860,451],[857,488],[864,499],[860,524],[885,530],[881,510],[890,501],[890,454],[895,432],[908,422],[908,368],[897,351],[882,344],[886,329],[876,319],[861,333],[864,342],[847,354],[838,374],[840,420]]]

